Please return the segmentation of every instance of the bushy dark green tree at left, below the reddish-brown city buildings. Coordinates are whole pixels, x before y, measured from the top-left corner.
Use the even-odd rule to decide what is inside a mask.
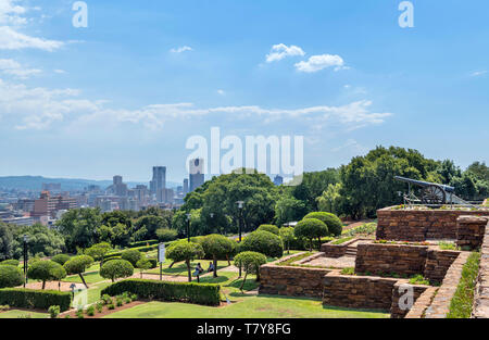
[[[97,229],[102,225],[99,209],[72,209],[57,222],[57,228],[65,237],[66,248],[75,252],[76,248],[89,248],[96,241]]]

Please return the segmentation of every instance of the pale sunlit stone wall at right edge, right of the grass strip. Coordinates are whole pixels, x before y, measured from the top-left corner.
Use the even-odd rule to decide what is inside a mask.
[[[474,318],[489,318],[489,224],[480,248],[479,275],[474,292]]]

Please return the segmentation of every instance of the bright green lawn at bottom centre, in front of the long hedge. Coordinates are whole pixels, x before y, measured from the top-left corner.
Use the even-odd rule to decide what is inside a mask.
[[[106,318],[387,318],[389,314],[323,306],[316,299],[259,295],[224,307],[150,302]]]

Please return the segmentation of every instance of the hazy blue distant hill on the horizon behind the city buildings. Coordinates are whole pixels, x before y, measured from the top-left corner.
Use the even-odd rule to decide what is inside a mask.
[[[84,188],[93,185],[100,186],[102,189],[112,185],[112,180],[91,180],[91,179],[71,179],[71,178],[47,178],[42,176],[9,176],[9,177],[0,177],[0,188],[11,190],[11,189],[20,189],[20,190],[33,190],[39,191],[42,189],[43,182],[52,182],[52,184],[61,184],[61,190],[71,191],[71,190],[83,190]],[[149,182],[136,182],[128,181],[126,182],[129,188],[134,188],[137,185],[148,186]],[[176,188],[180,186],[176,182],[167,182],[167,187]]]

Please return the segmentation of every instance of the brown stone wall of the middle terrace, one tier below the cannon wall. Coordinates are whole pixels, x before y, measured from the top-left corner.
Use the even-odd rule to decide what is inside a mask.
[[[427,252],[427,245],[359,244],[355,273],[423,274]]]

